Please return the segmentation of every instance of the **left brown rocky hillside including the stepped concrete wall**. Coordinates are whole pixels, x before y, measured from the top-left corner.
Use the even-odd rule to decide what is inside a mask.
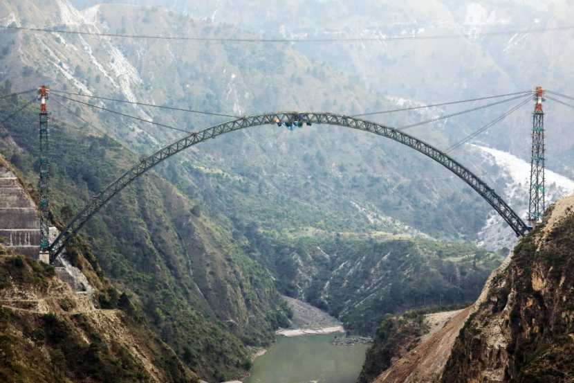
[[[99,276],[82,247],[69,248],[81,271],[33,260],[37,247],[32,254],[20,237],[37,235],[37,208],[15,172],[0,156],[2,209],[12,210],[11,220],[3,215],[0,244],[0,380],[197,382],[150,330],[133,296]],[[15,203],[26,207],[6,207]],[[12,229],[22,224],[28,227]]]

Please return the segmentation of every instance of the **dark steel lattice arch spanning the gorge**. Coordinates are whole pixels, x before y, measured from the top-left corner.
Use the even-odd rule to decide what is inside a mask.
[[[494,208],[497,213],[512,227],[517,235],[524,235],[530,230],[515,213],[515,211],[504,202],[504,200],[494,192],[483,180],[474,175],[470,170],[465,168],[461,163],[448,156],[445,152],[434,148],[434,146],[425,143],[414,136],[400,132],[392,127],[387,127],[379,123],[365,121],[360,118],[351,116],[343,116],[340,114],[332,113],[318,113],[318,112],[273,112],[268,114],[257,114],[252,116],[243,116],[236,120],[221,123],[208,127],[205,130],[193,132],[183,139],[175,141],[167,145],[165,148],[158,150],[151,156],[141,159],[135,166],[124,172],[124,174],[113,181],[107,188],[105,188],[98,195],[95,195],[84,206],[82,211],[78,213],[73,220],[66,226],[66,228],[58,235],[58,237],[50,244],[48,251],[50,251],[50,262],[55,260],[59,253],[62,252],[66,243],[72,238],[77,231],[79,231],[84,224],[97,213],[104,204],[106,204],[114,195],[118,194],[120,190],[125,188],[134,179],[153,168],[161,161],[172,157],[174,154],[181,152],[193,145],[214,139],[217,136],[234,132],[236,130],[245,129],[247,127],[254,127],[259,125],[271,125],[277,123],[278,125],[284,124],[288,127],[302,126],[302,124],[324,124],[324,125],[338,125],[350,127],[364,132],[378,134],[379,136],[387,137],[388,139],[407,145],[418,152],[425,154],[425,156],[440,163],[442,166],[453,172],[463,181],[465,181],[476,193],[479,193],[486,202]]]

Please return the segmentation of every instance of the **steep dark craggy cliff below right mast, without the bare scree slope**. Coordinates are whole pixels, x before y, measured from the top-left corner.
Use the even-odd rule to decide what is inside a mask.
[[[492,280],[456,339],[442,381],[572,382],[573,266],[574,197],[568,197]]]

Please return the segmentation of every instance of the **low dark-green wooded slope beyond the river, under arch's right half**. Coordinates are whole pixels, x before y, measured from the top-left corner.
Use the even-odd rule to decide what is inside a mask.
[[[250,231],[252,257],[284,294],[306,299],[371,335],[385,314],[469,304],[503,256],[471,244],[371,233]]]

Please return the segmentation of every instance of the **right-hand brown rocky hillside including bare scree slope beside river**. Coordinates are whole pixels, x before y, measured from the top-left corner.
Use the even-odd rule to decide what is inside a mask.
[[[572,382],[573,229],[567,197],[494,271],[476,303],[432,335],[420,337],[412,320],[387,319],[360,381]]]

